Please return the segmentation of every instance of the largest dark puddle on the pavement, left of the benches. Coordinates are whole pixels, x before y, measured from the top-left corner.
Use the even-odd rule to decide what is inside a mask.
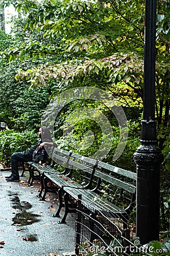
[[[8,195],[11,197],[10,200],[12,203],[12,208],[19,210],[19,212],[15,214],[15,217],[12,218],[14,221],[12,225],[26,226],[40,221],[38,218],[40,215],[27,212],[28,209],[32,208],[32,205],[29,202],[21,202],[17,193],[10,193]]]

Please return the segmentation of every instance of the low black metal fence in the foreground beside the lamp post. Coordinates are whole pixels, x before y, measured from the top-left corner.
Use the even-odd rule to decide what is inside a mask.
[[[79,204],[80,205],[80,204]],[[88,207],[90,208],[90,207]],[[124,229],[122,218],[109,216],[94,209],[78,209],[76,213],[75,247],[76,255],[108,252],[112,255],[130,255],[130,242],[135,237],[135,214],[129,216]]]

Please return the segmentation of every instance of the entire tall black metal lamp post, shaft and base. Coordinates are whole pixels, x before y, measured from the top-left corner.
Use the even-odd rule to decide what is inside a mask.
[[[141,146],[137,163],[137,236],[141,243],[159,240],[159,191],[162,154],[157,146],[155,121],[156,0],[145,2],[145,62]]]

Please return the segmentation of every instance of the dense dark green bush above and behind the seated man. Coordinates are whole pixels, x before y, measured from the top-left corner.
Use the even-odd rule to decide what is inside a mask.
[[[0,75],[0,119],[9,128],[16,130],[35,129],[40,126],[42,114],[49,103],[50,89],[46,87],[29,89],[27,82],[17,82],[16,69],[28,67],[26,61],[12,61],[1,65]]]

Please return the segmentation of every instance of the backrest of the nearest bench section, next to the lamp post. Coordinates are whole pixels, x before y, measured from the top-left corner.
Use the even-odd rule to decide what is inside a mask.
[[[131,213],[135,206],[137,174],[111,164],[99,162],[94,173],[96,186],[93,191],[109,201],[114,201],[118,207]]]

